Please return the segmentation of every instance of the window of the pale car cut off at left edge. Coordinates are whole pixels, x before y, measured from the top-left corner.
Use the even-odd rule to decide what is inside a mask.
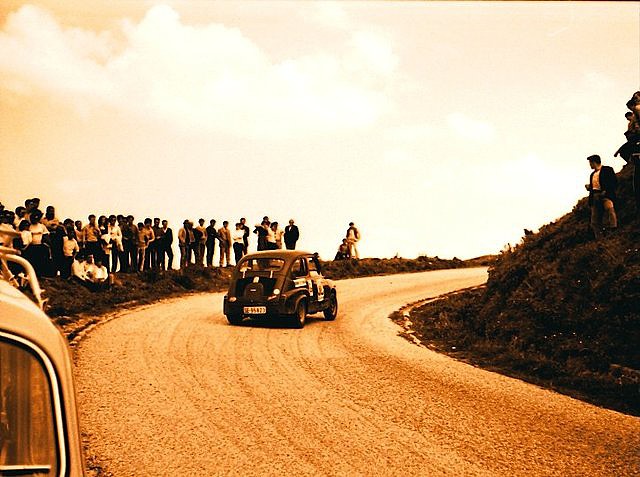
[[[0,337],[0,474],[57,475],[52,389],[33,350]]]

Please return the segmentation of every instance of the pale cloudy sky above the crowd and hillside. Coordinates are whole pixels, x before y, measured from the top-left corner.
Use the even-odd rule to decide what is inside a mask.
[[[640,2],[3,0],[0,201],[472,258],[622,168],[639,89]]]

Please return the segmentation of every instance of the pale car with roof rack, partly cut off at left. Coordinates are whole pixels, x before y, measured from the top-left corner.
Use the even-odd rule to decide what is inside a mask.
[[[84,475],[71,357],[31,265],[0,247],[0,475]],[[9,264],[24,269],[33,300]]]

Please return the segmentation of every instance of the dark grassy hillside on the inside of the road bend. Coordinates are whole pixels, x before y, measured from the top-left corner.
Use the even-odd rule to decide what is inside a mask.
[[[413,310],[419,339],[640,414],[640,219],[632,173],[625,166],[618,175],[616,232],[595,241],[587,200],[580,200],[501,254],[486,287]]]

